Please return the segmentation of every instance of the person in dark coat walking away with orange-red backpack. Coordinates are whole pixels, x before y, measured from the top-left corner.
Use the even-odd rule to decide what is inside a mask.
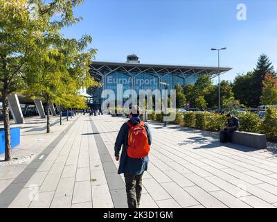
[[[127,203],[129,208],[138,208],[141,200],[143,172],[148,169],[148,153],[151,133],[147,124],[141,121],[138,105],[130,107],[130,119],[121,126],[114,144],[116,161],[120,164],[118,174],[124,173]]]

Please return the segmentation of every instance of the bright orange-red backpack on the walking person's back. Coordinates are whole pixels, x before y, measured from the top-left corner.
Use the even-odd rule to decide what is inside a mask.
[[[131,158],[143,158],[146,157],[150,151],[148,144],[148,135],[145,129],[145,123],[133,125],[127,122],[129,126],[128,140],[127,140],[127,155]]]

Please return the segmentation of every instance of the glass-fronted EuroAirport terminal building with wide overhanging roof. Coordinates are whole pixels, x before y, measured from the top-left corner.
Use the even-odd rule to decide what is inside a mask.
[[[87,90],[92,96],[93,108],[100,108],[103,89],[112,89],[116,94],[118,84],[123,84],[123,92],[134,89],[139,94],[139,89],[164,89],[165,85],[159,84],[161,82],[168,83],[168,89],[175,89],[178,83],[195,83],[201,75],[208,74],[215,78],[219,74],[218,67],[141,64],[136,55],[127,56],[127,62],[94,61],[90,68],[91,76],[102,83],[102,87]],[[220,67],[220,74],[229,70],[231,67]]]

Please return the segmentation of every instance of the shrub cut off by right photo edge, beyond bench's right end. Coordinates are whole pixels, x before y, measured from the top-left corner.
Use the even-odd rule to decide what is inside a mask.
[[[277,109],[269,108],[265,114],[265,120],[262,123],[263,133],[267,139],[277,141]]]

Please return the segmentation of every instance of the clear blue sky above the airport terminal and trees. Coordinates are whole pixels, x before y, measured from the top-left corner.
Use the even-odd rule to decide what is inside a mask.
[[[237,5],[247,6],[238,21]],[[233,67],[222,79],[255,67],[267,54],[277,69],[276,0],[84,0],[75,8],[79,24],[66,37],[93,37],[96,60],[123,61],[130,53],[141,63],[217,66],[212,47],[224,47],[221,65]],[[216,81],[215,81],[216,83]]]

